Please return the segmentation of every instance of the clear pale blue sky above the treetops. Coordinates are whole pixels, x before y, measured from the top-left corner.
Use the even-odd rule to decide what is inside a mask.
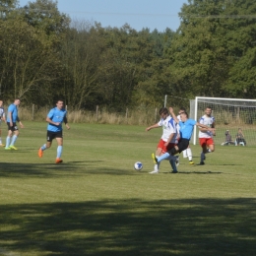
[[[20,6],[28,4],[20,0]],[[34,1],[31,1],[34,2]],[[120,28],[129,24],[136,31],[149,28],[163,32],[176,31],[180,20],[178,13],[186,0],[58,0],[60,12],[73,20],[92,21],[102,27]]]

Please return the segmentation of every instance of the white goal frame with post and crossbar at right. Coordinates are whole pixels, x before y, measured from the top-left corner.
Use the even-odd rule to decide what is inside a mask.
[[[227,107],[233,106],[233,107],[237,107],[237,108],[239,108],[239,107],[253,108],[253,110],[255,109],[255,112],[256,112],[256,99],[196,96],[195,99],[190,99],[190,118],[195,119],[198,122],[199,122],[199,118],[202,116],[201,114],[199,116],[199,113],[198,113],[198,103],[199,102],[206,103],[206,106],[207,106],[207,104],[213,106],[213,116],[215,116],[214,105],[224,105]],[[253,119],[253,121],[256,123],[256,118]],[[255,130],[255,128],[256,128],[256,125],[254,124],[254,122],[252,122],[252,124],[250,124],[251,129],[253,129],[253,130]],[[234,129],[236,127],[241,127],[241,125],[237,124],[236,126],[233,126]],[[228,128],[228,126],[226,126],[226,128]],[[223,129],[223,131],[224,131],[224,129]],[[255,137],[256,137],[256,130],[254,132],[255,132]],[[218,133],[218,125],[217,125],[217,133]],[[220,136],[224,137],[223,134]],[[194,132],[193,132],[193,138],[192,138],[192,143],[194,145],[197,144],[197,141],[198,141],[197,138],[198,138],[198,129],[197,129],[197,126],[195,126]]]

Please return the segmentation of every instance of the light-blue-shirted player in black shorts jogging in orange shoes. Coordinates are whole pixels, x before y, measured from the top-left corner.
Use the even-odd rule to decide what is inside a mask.
[[[52,140],[56,139],[57,147],[57,157],[55,162],[61,163],[62,149],[63,149],[63,134],[62,134],[62,123],[64,122],[67,129],[70,127],[67,121],[67,111],[63,108],[63,100],[58,100],[56,107],[52,108],[46,117],[47,126],[47,142],[43,144],[38,150],[38,157],[42,158],[43,152],[51,147]]]

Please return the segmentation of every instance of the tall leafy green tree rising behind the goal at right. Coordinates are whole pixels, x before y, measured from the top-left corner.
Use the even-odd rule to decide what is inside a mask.
[[[229,71],[254,40],[256,20],[250,15],[255,7],[252,0],[189,0],[183,5],[181,26],[168,50],[177,95],[228,96]]]

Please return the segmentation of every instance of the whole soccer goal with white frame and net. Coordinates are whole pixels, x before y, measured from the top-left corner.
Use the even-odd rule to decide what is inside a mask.
[[[190,118],[199,121],[207,106],[212,107],[216,119],[216,145],[256,146],[256,99],[222,98],[197,96],[190,100]],[[237,139],[238,129],[244,135],[244,143]],[[226,131],[231,143],[226,144]],[[198,128],[195,126],[194,145],[198,143]]]

